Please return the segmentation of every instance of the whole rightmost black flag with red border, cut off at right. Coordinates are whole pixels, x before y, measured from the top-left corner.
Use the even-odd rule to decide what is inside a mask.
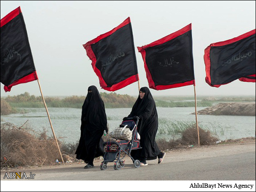
[[[212,87],[220,87],[236,79],[255,82],[255,29],[239,37],[210,44],[204,50],[204,63],[205,80]]]

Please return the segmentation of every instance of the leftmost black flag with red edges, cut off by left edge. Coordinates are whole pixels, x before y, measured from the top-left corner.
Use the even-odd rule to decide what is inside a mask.
[[[38,79],[20,7],[1,19],[1,83],[4,90]]]

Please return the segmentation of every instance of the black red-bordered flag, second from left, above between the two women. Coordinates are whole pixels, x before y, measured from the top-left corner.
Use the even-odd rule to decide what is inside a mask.
[[[115,91],[139,80],[130,17],[83,46],[103,89]]]

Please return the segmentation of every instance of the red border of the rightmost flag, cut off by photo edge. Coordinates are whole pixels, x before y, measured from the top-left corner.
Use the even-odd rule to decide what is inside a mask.
[[[211,50],[211,47],[220,47],[220,46],[225,46],[225,45],[228,45],[228,44],[235,43],[236,41],[240,41],[244,38],[247,38],[247,37],[250,37],[251,35],[254,35],[255,32],[256,32],[256,29],[253,29],[253,30],[251,30],[247,33],[244,33],[243,35],[240,35],[240,36],[236,37],[236,38],[229,39],[227,41],[220,41],[220,42],[217,42],[217,43],[210,44],[206,49],[204,49],[204,64],[205,64],[205,71],[206,71],[205,81],[207,82],[207,84],[209,84],[211,87],[220,87],[221,85],[224,85],[224,84],[215,84],[215,85],[211,84],[211,76],[210,76],[210,71],[211,71],[210,50]],[[246,80],[246,79],[243,78],[243,80]],[[229,82],[229,83],[231,83],[231,82]],[[245,82],[252,82],[252,81],[248,80],[248,81],[245,81]],[[255,80],[254,80],[254,82],[255,82]],[[227,84],[229,84],[229,83],[227,83]]]

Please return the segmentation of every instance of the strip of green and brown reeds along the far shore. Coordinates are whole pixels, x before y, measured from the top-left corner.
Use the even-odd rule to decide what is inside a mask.
[[[105,108],[132,108],[137,97],[127,94],[100,93]],[[86,96],[49,97],[45,96],[47,107],[81,108]],[[157,107],[179,108],[195,107],[194,96],[155,96]],[[255,96],[197,96],[198,107],[211,107],[221,102],[255,102]],[[41,96],[30,95],[28,92],[17,96],[1,97],[1,114],[26,113],[20,108],[44,108]]]

